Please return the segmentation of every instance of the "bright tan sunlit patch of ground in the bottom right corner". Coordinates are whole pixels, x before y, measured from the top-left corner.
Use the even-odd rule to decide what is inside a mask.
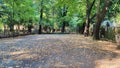
[[[105,57],[102,60],[95,61],[95,68],[120,68],[120,50],[116,50],[116,43],[111,43],[107,41],[98,41],[101,44],[101,49],[110,51],[111,53],[116,53],[118,57]]]

